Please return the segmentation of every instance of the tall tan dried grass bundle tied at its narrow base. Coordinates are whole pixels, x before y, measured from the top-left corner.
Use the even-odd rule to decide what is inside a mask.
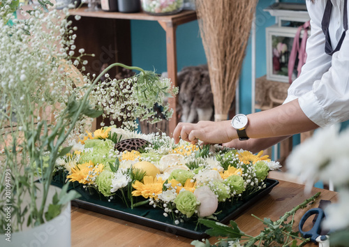
[[[196,0],[215,121],[228,118],[258,0]]]

